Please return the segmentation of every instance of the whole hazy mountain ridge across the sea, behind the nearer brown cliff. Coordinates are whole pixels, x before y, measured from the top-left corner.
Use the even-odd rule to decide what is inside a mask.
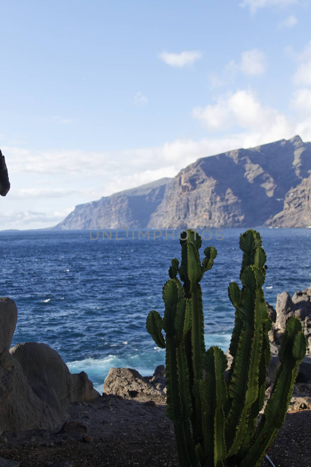
[[[311,143],[295,136],[202,157],[172,179],[76,206],[55,228],[277,226],[287,193],[310,174]]]

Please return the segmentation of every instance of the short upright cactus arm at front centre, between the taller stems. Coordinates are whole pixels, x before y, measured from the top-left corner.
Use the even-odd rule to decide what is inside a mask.
[[[226,368],[226,355],[219,347],[210,347],[204,355],[206,378],[202,385],[202,428],[206,465],[214,467],[222,467],[226,457],[223,410],[227,400]]]

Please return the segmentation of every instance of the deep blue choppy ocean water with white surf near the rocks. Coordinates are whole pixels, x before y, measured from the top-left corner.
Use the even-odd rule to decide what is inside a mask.
[[[230,281],[239,282],[246,229],[211,229],[201,248],[217,248],[203,290],[206,346],[228,348],[234,323]],[[267,253],[266,300],[311,283],[311,229],[258,228]],[[171,233],[172,231],[169,231]],[[117,239],[116,239],[117,234]],[[156,233],[159,235],[159,232]],[[14,299],[18,322],[12,345],[45,342],[55,348],[71,372],[85,371],[102,391],[111,367],[136,368],[151,375],[165,351],[146,332],[147,313],[163,315],[162,286],[180,244],[162,236],[138,240],[138,231],[112,231],[111,240],[90,240],[89,231],[0,232],[0,295]],[[96,231],[92,231],[96,238]],[[222,238],[222,239],[221,239]],[[121,240],[120,240],[121,239]]]

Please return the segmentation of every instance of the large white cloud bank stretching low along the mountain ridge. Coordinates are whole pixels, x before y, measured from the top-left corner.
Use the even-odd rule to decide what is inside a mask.
[[[305,87],[294,92],[290,107],[293,111],[289,118],[264,105],[251,90],[242,89],[220,96],[213,105],[193,110],[194,118],[213,130],[200,141],[180,138],[157,147],[97,152],[2,148],[12,187],[3,200],[7,212],[0,215],[1,228],[53,226],[73,205],[162,177],[174,177],[200,157],[288,139],[295,134],[310,141],[311,90]]]

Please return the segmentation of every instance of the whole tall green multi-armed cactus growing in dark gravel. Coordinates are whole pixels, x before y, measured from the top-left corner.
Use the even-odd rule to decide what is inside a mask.
[[[206,351],[204,343],[200,281],[217,252],[205,248],[201,263],[202,242],[192,230],[181,235],[180,244],[181,263],[172,260],[170,279],[163,287],[164,318],[152,310],[146,321],[155,343],[166,349],[166,411],[173,421],[180,466],[258,467],[283,424],[306,352],[301,323],[295,317],[286,322],[279,349],[281,366],[256,428],[264,405],[271,329],[263,294],[266,254],[260,234],[249,229],[240,236],[242,288],[234,282],[228,287],[235,324],[227,379],[226,355],[217,346]]]

